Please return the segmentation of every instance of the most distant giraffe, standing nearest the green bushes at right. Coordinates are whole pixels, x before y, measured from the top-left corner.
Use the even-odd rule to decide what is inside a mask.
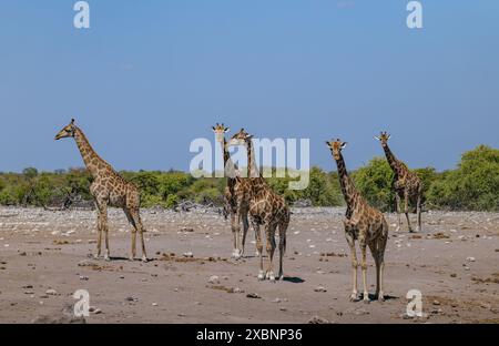
[[[404,200],[404,213],[406,214],[407,225],[409,227],[409,232],[413,232],[413,227],[410,226],[409,220],[409,203],[416,204],[416,214],[418,218],[418,225],[416,227],[416,232],[421,231],[421,199],[422,199],[422,190],[424,185],[421,180],[413,173],[407,165],[397,160],[395,155],[391,153],[388,146],[388,140],[391,138],[386,132],[381,132],[379,136],[375,136],[376,140],[381,142],[383,150],[385,151],[386,160],[394,171],[394,184],[393,189],[395,191],[395,197],[397,203],[397,215],[398,215],[398,226],[397,232],[401,227],[401,218],[400,218],[400,200]]]

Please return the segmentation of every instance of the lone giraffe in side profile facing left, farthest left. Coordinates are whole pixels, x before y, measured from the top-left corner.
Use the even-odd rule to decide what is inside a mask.
[[[105,236],[105,252],[104,260],[110,261],[109,236],[108,236],[108,205],[122,207],[126,218],[132,224],[132,252],[130,260],[135,258],[135,238],[136,232],[141,236],[142,243],[142,261],[147,262],[144,244],[144,227],[140,216],[140,191],[139,189],[120,176],[113,167],[102,160],[98,153],[92,149],[89,140],[83,131],[74,124],[74,119],[71,123],[64,126],[57,135],[55,140],[73,138],[80,150],[86,170],[93,177],[90,185],[90,193],[92,194],[98,210],[98,248],[95,258],[101,256],[102,233]]]

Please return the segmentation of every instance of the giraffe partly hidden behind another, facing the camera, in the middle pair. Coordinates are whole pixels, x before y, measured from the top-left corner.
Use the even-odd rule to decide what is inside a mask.
[[[216,141],[220,143],[223,157],[224,157],[224,172],[227,177],[227,185],[224,190],[225,208],[231,215],[231,230],[233,234],[233,258],[241,258],[244,254],[244,245],[246,241],[247,230],[249,223],[247,221],[247,203],[245,194],[247,189],[242,189],[240,182],[235,179],[235,165],[231,160],[231,155],[227,149],[227,142],[225,141],[225,133],[230,131],[230,128],[225,128],[224,124],[216,123],[212,126],[213,132],[216,135]],[[240,192],[241,197],[237,196]],[[241,240],[241,222],[243,222],[243,238]],[[241,245],[241,246],[240,246]]]

